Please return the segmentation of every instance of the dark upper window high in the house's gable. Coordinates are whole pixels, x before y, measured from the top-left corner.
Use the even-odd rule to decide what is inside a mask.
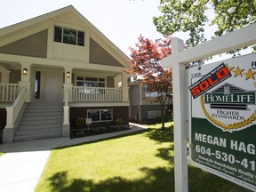
[[[54,42],[84,46],[84,32],[55,26]]]

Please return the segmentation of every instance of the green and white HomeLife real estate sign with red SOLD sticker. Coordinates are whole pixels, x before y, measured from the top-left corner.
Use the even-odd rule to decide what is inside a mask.
[[[256,54],[188,75],[190,163],[256,191]]]

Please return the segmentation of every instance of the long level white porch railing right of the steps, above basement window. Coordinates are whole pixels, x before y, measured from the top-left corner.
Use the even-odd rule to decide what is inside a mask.
[[[73,86],[73,101],[108,102],[122,101],[122,88]]]

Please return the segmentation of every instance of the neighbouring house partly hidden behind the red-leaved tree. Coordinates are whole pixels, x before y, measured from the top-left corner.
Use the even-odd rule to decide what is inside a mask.
[[[130,121],[145,124],[161,116],[161,108],[156,96],[156,92],[147,92],[145,85],[140,84],[140,79],[129,83]],[[172,105],[167,108],[172,110]]]

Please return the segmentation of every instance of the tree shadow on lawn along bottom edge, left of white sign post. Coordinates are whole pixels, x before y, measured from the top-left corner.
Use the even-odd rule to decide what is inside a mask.
[[[127,180],[113,177],[108,180],[95,182],[93,180],[72,179],[68,180],[68,172],[57,172],[48,180],[54,192],[79,191],[79,192],[172,192],[174,191],[173,169],[142,168],[145,177],[139,180]]]

